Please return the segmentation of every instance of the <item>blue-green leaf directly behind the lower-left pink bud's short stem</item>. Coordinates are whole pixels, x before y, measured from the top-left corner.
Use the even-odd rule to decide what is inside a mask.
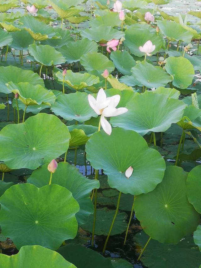
[[[48,164],[45,164],[36,169],[27,182],[39,188],[49,184],[50,172],[47,170],[47,166]],[[80,210],[76,214],[78,224],[87,222],[89,215],[94,213],[90,194],[93,189],[99,188],[99,181],[85,178],[74,166],[67,162],[60,162],[57,171],[52,176],[52,183],[63,186],[72,193],[80,206]]]

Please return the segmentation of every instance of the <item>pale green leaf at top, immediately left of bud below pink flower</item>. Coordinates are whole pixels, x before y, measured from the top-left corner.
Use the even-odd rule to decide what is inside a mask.
[[[109,12],[108,14],[99,16],[96,19],[91,19],[89,21],[89,25],[91,27],[99,27],[101,25],[117,27],[121,25],[121,20],[119,19],[119,14],[117,12]]]

